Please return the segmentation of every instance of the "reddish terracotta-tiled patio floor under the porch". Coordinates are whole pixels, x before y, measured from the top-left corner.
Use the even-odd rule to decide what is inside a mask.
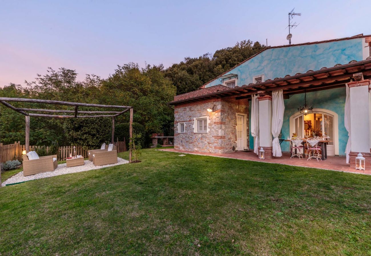
[[[302,166],[302,167],[319,168],[319,169],[326,169],[326,170],[333,170],[333,171],[352,172],[352,173],[358,173],[358,174],[371,175],[371,171],[360,171],[360,170],[355,170],[353,167],[351,168],[349,164],[345,163],[345,157],[338,157],[338,156],[328,156],[326,160],[324,161],[319,160],[317,162],[316,159],[311,159],[307,161],[306,158],[304,159],[299,159],[297,157],[290,158],[290,154],[288,153],[283,153],[281,157],[273,157],[273,159],[259,159],[257,155],[251,151],[250,152],[239,151],[239,152],[233,152],[233,153],[227,153],[227,154],[213,154],[213,153],[183,151],[183,150],[177,150],[173,148],[158,149],[158,150],[178,152],[178,153],[184,153],[184,154],[217,156],[217,157],[224,157],[224,158],[250,160],[250,161],[256,161],[256,162],[285,164],[285,165],[292,165],[292,166]]]

